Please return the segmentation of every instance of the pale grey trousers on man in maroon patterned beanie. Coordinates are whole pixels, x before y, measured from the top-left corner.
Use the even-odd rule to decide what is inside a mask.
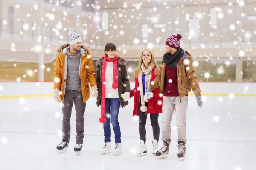
[[[188,96],[163,97],[162,140],[171,142],[171,121],[175,111],[178,141],[186,143],[186,111],[188,108]]]

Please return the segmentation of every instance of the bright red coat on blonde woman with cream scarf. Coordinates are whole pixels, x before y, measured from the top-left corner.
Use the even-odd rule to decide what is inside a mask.
[[[155,74],[154,69],[152,70],[152,76],[151,76],[151,82],[154,81],[154,79],[157,77],[157,74]],[[139,102],[140,102],[140,91],[137,90],[139,87],[139,79],[135,79],[135,88],[131,90],[131,97],[134,96],[134,110],[132,116],[138,116],[138,109],[139,108]],[[147,92],[147,89],[145,89],[145,92]],[[154,89],[153,97],[148,100],[148,109],[147,113],[162,113],[162,103],[163,103],[163,95],[162,97],[159,97],[159,86]],[[161,102],[159,102],[161,101]],[[160,104],[160,105],[159,105]]]

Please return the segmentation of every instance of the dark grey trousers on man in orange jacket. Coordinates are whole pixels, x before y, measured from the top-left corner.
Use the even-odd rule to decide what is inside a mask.
[[[83,144],[85,103],[81,90],[66,90],[62,107],[62,142],[70,141],[70,118],[73,104],[76,109],[76,143]]]

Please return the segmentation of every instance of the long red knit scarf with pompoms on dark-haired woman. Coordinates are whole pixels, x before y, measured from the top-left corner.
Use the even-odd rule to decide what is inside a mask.
[[[106,121],[105,118],[105,103],[106,103],[106,82],[105,82],[105,74],[106,74],[106,67],[107,67],[107,62],[113,62],[113,84],[112,88],[117,89],[118,88],[118,70],[117,70],[117,55],[111,59],[108,58],[107,54],[104,55],[103,59],[103,64],[102,64],[102,96],[101,96],[101,118],[99,118],[99,122],[104,123]]]

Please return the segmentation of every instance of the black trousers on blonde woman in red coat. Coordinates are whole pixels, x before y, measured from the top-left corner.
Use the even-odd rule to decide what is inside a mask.
[[[148,113],[142,112],[140,110],[140,106],[141,106],[141,100],[138,108],[139,109],[139,133],[140,133],[140,140],[143,140],[145,142],[146,141],[146,121],[147,121]],[[145,102],[145,106],[148,106],[148,102]],[[150,114],[150,121],[153,128],[153,136],[154,136],[154,139],[156,139],[157,141],[159,140],[159,135],[160,135],[158,116],[159,116],[159,113]]]

